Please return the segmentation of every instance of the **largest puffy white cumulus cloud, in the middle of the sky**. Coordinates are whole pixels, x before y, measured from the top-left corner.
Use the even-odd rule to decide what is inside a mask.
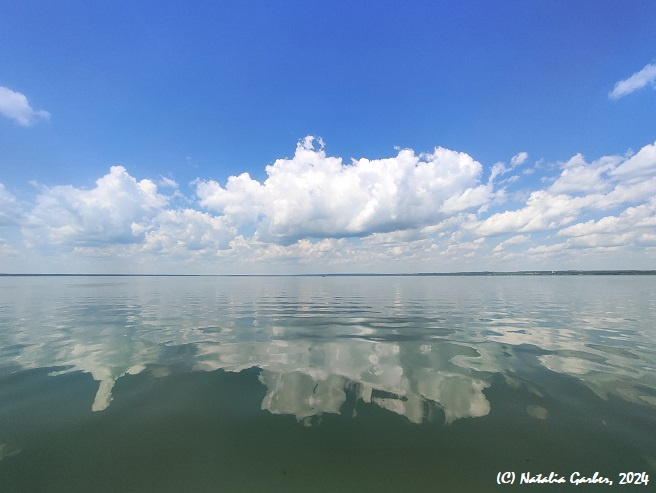
[[[363,236],[435,224],[491,198],[482,166],[466,153],[441,147],[411,149],[387,159],[327,156],[322,143],[299,143],[294,157],[266,167],[260,183],[247,173],[225,187],[196,183],[200,205],[235,224],[254,223],[258,238],[286,243],[302,237]]]

